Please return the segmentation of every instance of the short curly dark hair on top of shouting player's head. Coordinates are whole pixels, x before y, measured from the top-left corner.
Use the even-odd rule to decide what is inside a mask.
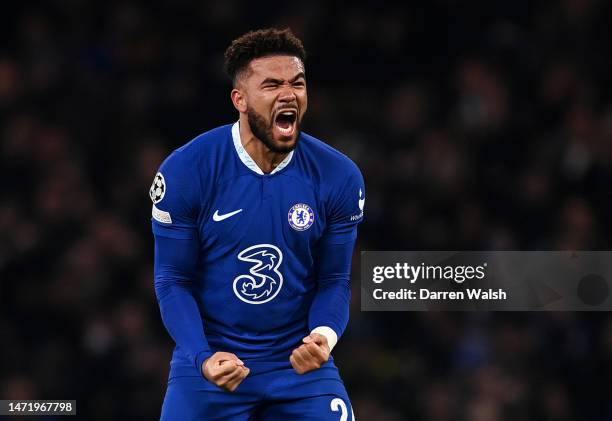
[[[306,59],[302,41],[289,28],[250,31],[232,41],[225,50],[225,72],[235,85],[236,76],[248,67],[251,60],[285,54],[295,56],[302,62]]]

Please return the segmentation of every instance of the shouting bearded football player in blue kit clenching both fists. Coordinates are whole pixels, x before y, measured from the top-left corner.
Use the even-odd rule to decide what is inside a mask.
[[[365,188],[300,131],[304,58],[289,30],[234,40],[238,122],[174,151],[151,186],[155,291],[176,342],[162,420],[354,419],[330,352]]]

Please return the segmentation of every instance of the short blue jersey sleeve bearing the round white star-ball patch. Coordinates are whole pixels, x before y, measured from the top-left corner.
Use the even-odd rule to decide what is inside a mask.
[[[174,151],[153,179],[149,196],[153,201],[153,233],[162,237],[197,238],[199,184],[197,169],[186,151]]]

